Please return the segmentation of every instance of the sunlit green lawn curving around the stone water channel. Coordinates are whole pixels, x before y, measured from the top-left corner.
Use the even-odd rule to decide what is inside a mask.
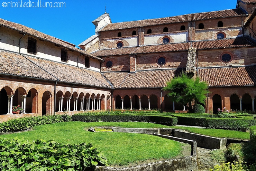
[[[172,140],[147,134],[88,132],[87,128],[93,126],[168,127],[151,123],[61,122],[35,126],[33,131],[1,136],[24,138],[29,141],[44,139],[70,144],[92,143],[94,147],[104,153],[111,166],[130,165],[148,160],[171,159],[180,155],[182,151],[183,144]]]

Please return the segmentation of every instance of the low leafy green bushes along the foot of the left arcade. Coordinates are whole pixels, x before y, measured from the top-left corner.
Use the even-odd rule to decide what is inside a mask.
[[[22,117],[0,123],[0,132],[22,131],[36,125],[69,121],[72,121],[72,118],[69,115]]]

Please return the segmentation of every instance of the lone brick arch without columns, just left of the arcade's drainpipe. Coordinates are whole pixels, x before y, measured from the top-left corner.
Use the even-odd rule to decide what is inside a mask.
[[[52,94],[45,91],[42,97],[42,115],[49,115],[52,112]]]

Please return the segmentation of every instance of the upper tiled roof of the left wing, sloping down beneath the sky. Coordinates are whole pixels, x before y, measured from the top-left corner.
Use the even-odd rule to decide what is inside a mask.
[[[46,35],[46,34],[40,32],[40,31],[29,28],[27,26],[24,26],[24,25],[15,23],[15,22],[10,22],[10,21],[7,21],[7,20],[3,20],[1,18],[0,18],[0,25],[4,26],[4,27],[7,27],[7,28],[10,28],[10,29],[13,29],[13,30],[17,30],[19,32],[22,32],[22,33],[25,33],[25,34],[28,34],[28,35],[31,35],[31,36],[38,37],[39,39],[43,39],[43,40],[52,42],[52,43],[60,45],[62,47],[69,48],[71,50],[77,51],[77,52],[82,53],[84,55],[87,55],[89,57],[102,60],[101,58],[98,58],[96,56],[93,56],[93,55],[90,55],[90,54],[86,53],[84,50],[81,50],[79,48],[74,47],[74,45],[69,43],[69,42],[57,39],[53,36]]]

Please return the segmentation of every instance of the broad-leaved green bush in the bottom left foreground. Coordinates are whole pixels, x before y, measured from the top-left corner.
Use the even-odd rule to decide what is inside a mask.
[[[91,144],[61,144],[55,141],[28,142],[0,137],[1,171],[83,171],[106,165],[106,158]]]

